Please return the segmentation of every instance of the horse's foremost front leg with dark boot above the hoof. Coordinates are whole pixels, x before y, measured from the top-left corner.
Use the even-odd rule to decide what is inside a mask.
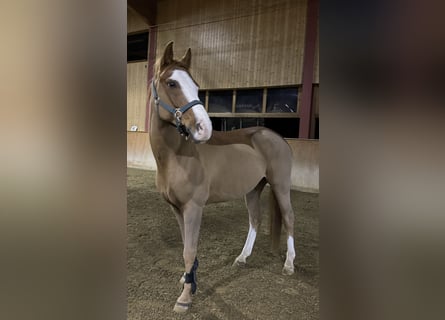
[[[184,287],[181,295],[173,308],[176,312],[186,312],[192,304],[192,294],[196,291],[196,269],[198,260],[199,228],[201,226],[202,207],[193,202],[188,203],[183,209],[184,218]]]

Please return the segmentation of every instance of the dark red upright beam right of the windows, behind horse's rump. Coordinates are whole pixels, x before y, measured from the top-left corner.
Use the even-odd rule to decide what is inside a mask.
[[[314,80],[315,45],[317,41],[318,0],[308,0],[306,38],[303,61],[303,88],[300,104],[300,130],[298,138],[309,139],[311,129],[312,85]]]

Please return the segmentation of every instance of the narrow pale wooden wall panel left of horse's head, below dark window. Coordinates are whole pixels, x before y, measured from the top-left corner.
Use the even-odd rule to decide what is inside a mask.
[[[147,104],[147,62],[127,64],[127,130],[136,125],[145,131]]]

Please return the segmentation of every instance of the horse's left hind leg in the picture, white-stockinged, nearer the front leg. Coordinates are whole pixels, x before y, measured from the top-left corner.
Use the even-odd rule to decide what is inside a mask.
[[[247,210],[249,212],[249,233],[241,254],[235,259],[233,265],[244,265],[247,257],[252,254],[256,234],[261,223],[260,195],[266,185],[266,179],[262,179],[258,185],[245,196]]]

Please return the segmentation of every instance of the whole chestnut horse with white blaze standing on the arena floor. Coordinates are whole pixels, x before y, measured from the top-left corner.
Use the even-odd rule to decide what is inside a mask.
[[[183,290],[174,307],[176,312],[189,309],[196,291],[198,235],[207,203],[245,197],[249,232],[234,265],[244,264],[260,225],[260,194],[269,183],[275,207],[271,213],[273,247],[278,248],[282,222],[287,235],[283,274],[294,272],[295,258],[289,145],[263,127],[213,131],[198,98],[198,85],[189,73],[190,62],[190,49],[181,60],[174,60],[170,42],[156,63],[149,92],[156,185],[176,215],[184,244]]]

